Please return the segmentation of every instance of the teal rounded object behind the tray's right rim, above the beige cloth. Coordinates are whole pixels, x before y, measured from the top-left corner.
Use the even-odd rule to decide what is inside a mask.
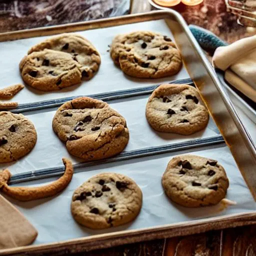
[[[201,48],[209,52],[211,55],[213,55],[217,47],[228,45],[227,42],[221,40],[207,29],[196,25],[189,25],[188,27]]]

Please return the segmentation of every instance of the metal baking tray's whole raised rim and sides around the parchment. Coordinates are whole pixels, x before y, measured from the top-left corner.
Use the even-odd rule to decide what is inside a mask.
[[[6,32],[0,34],[0,41],[15,40],[21,38],[30,38],[34,36],[52,35],[62,32],[74,32],[81,30],[97,29],[102,27],[111,27],[116,25],[144,22],[149,20],[164,19],[171,33],[174,36],[184,65],[193,83],[199,90],[202,100],[208,107],[208,110],[218,126],[228,148],[230,149],[239,170],[247,183],[247,186],[256,199],[256,148],[248,132],[241,123],[232,103],[221,88],[221,85],[204,56],[202,50],[193,38],[183,18],[175,11],[152,11],[143,14],[126,15],[115,18],[99,19],[89,22],[78,22],[72,24],[58,25],[45,28],[36,28],[16,32]],[[188,143],[189,144],[189,143]],[[183,150],[187,147],[176,148]],[[191,143],[189,144],[191,146]],[[201,145],[199,145],[201,146]],[[165,148],[166,149],[166,148]],[[170,152],[157,148],[157,152]],[[177,152],[177,151],[176,151]],[[150,155],[144,151],[145,155]],[[142,156],[145,156],[142,155]],[[121,155],[122,157],[123,155]],[[125,155],[124,155],[125,157]],[[125,158],[123,158],[125,159]],[[119,159],[119,160],[123,160]],[[39,245],[29,245],[11,249],[0,250],[1,255],[43,255],[49,251],[65,250],[66,252],[85,251],[96,248],[119,245],[123,243],[137,242],[148,239],[171,237],[176,235],[186,235],[203,232],[210,229],[220,229],[238,225],[256,223],[256,211],[244,212],[233,215],[223,215],[205,219],[194,219],[192,221],[165,224],[150,228],[141,228],[134,230],[115,231],[111,233],[102,233],[88,237],[75,238],[66,241],[46,243]]]

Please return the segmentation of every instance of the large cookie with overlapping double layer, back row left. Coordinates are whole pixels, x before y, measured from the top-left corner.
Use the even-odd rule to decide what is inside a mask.
[[[91,79],[99,64],[99,53],[86,38],[64,33],[31,47],[19,68],[26,84],[53,91]]]

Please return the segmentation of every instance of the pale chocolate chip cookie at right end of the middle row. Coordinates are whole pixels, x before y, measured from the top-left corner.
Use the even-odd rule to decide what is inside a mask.
[[[159,85],[146,104],[146,119],[153,129],[192,134],[208,123],[208,111],[197,90],[186,84]]]

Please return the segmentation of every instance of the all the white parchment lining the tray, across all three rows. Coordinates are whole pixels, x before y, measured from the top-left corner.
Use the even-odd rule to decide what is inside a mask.
[[[108,44],[117,33],[133,30],[151,30],[161,32],[173,38],[169,28],[163,20],[148,21],[129,24],[100,30],[78,32],[88,38],[98,49],[101,55],[101,65],[98,73],[90,81],[57,92],[44,93],[31,89],[28,86],[19,92],[13,100],[19,103],[55,99],[80,94],[92,94],[119,89],[136,88],[150,84],[157,84],[173,79],[189,77],[184,67],[174,76],[162,79],[136,79],[125,76],[116,66],[107,52]],[[7,85],[22,82],[18,63],[28,48],[41,41],[44,37],[21,39],[9,42],[0,42],[1,53],[1,83],[0,88]],[[11,53],[11,54],[10,54]],[[110,101],[110,106],[122,114],[130,132],[130,140],[125,150],[133,150],[149,146],[157,146],[175,143],[191,138],[209,137],[219,134],[212,119],[207,128],[190,136],[166,134],[155,132],[150,128],[145,119],[145,104],[149,95],[126,98],[121,101]],[[34,149],[25,157],[8,166],[10,171],[20,173],[62,164],[61,158],[68,157],[72,162],[78,162],[71,157],[64,144],[56,137],[51,128],[52,117],[55,109],[27,112],[25,115],[34,123],[38,139]],[[161,187],[161,176],[170,158],[178,153],[193,153],[209,158],[214,158],[225,168],[230,181],[226,198],[236,201],[236,205],[228,206],[221,210],[220,205],[185,208],[172,203],[164,194]],[[254,211],[256,204],[233,160],[227,146],[210,147],[203,150],[161,154],[150,157],[142,157],[121,162],[112,162],[76,170],[68,187],[57,196],[36,200],[32,202],[18,202],[8,198],[37,228],[38,236],[34,244],[67,240],[98,233],[107,233],[117,230],[129,230],[146,227],[154,227],[162,224],[177,223],[194,219],[203,219],[210,216],[226,215]],[[79,171],[79,172],[78,172]],[[104,230],[90,230],[78,225],[70,213],[70,201],[74,189],[99,172],[120,172],[133,178],[143,193],[143,204],[138,217],[116,228]],[[18,185],[40,185],[54,179],[38,180]]]

